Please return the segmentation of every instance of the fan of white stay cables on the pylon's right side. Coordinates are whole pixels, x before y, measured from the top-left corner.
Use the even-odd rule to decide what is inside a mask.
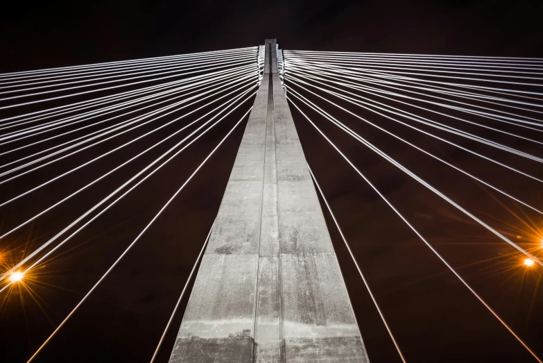
[[[430,248],[455,278],[537,362],[542,362],[517,332],[424,237],[424,233],[415,228],[410,217],[400,212],[379,185],[342,151],[343,145],[334,142],[339,139],[334,139],[331,133],[342,134],[343,138],[354,140],[355,144],[379,155],[380,160],[420,183],[427,192],[455,208],[470,223],[488,230],[500,242],[509,244],[523,256],[526,266],[537,264],[543,267],[543,260],[537,252],[539,246],[539,249],[529,248],[519,243],[515,237],[504,233],[492,217],[470,211],[470,205],[455,201],[453,196],[447,196],[433,186],[432,180],[435,178],[429,179],[415,173],[407,162],[386,151],[386,144],[394,143],[400,145],[398,148],[411,149],[417,153],[416,160],[423,162],[431,158],[446,165],[454,172],[471,178],[492,196],[514,203],[516,208],[524,211],[519,215],[526,217],[531,213],[539,218],[543,214],[541,208],[506,189],[503,179],[515,178],[515,183],[543,183],[537,173],[537,168],[541,169],[540,163],[543,162],[537,156],[543,132],[543,60],[320,51],[283,51],[282,57],[278,62],[279,74],[288,101],[293,106],[293,114],[298,113],[301,119],[309,122],[325,143],[341,155],[341,159]],[[441,153],[439,148],[445,146],[440,144],[463,155],[463,160],[478,159],[478,165],[484,165],[481,164],[483,162],[498,168],[503,179],[489,180],[480,176],[478,171],[481,169],[463,167],[461,162]],[[428,174],[431,173],[424,172],[424,175]],[[317,181],[315,175],[313,178]],[[322,194],[318,183],[317,186]],[[528,185],[526,187],[529,189]],[[322,197],[399,357],[406,362],[324,194]],[[523,223],[529,226],[529,218],[525,219]],[[536,235],[540,234],[535,229],[533,231]]]

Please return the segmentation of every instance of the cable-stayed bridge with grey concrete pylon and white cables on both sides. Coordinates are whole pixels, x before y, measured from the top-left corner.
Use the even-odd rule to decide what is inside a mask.
[[[329,228],[338,230],[395,357],[411,361],[372,293],[365,275],[371,271],[359,263],[356,242],[344,235],[321,189],[319,181],[329,176],[318,170],[332,167],[307,163],[304,152],[313,146],[304,143],[302,130],[309,129],[395,216],[397,226],[389,228],[406,228],[424,245],[515,341],[520,359],[542,362],[534,338],[512,326],[417,228],[405,206],[388,197],[375,178],[379,170],[354,160],[363,150],[386,162],[416,192],[424,190],[508,248],[505,257],[488,248],[485,258],[504,258],[540,276],[543,241],[533,221],[543,214],[536,196],[543,182],[537,156],[542,68],[543,60],[533,58],[287,51],[266,40],[260,47],[0,74],[0,208],[10,213],[33,194],[60,186],[45,203],[3,222],[0,239],[8,253],[36,221],[49,218],[53,225],[24,244],[22,257],[11,253],[3,261],[4,303],[15,289],[39,284],[47,264],[76,248],[93,223],[105,216],[114,223],[112,211],[137,200],[146,184],[160,188],[157,176],[164,178],[165,170],[190,169],[28,362],[38,360],[236,133],[242,136],[216,219],[169,307],[150,362],[161,348],[171,351],[170,362],[369,362],[364,321],[356,321]],[[205,157],[195,160],[191,151],[200,144]],[[381,144],[415,152],[421,162],[410,165]],[[469,164],[451,160],[444,149]],[[45,170],[46,178],[35,178]],[[445,173],[458,183],[475,182],[479,193],[522,221],[532,240],[501,226],[496,210],[481,214],[462,196],[441,190],[436,178]],[[511,188],[511,180],[524,190]],[[54,223],[55,213],[75,201],[82,212]],[[187,300],[178,328],[174,316]],[[165,346],[171,330],[179,330],[177,339]]]

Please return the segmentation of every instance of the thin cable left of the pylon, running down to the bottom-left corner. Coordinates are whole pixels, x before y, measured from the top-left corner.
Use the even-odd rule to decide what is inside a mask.
[[[153,217],[153,219],[151,219],[151,221],[147,224],[147,226],[141,230],[141,233],[139,233],[139,235],[137,235],[137,237],[134,239],[134,241],[126,248],[125,251],[123,251],[123,253],[121,253],[121,255],[119,256],[119,258],[117,258],[117,260],[115,260],[115,262],[111,265],[111,267],[109,269],[107,269],[107,271],[105,271],[105,273],[102,275],[102,277],[96,282],[96,284],[94,284],[94,286],[89,290],[89,292],[87,292],[87,294],[85,296],[83,296],[83,298],[79,301],[79,303],[76,305],[76,307],[74,307],[73,310],[71,310],[71,312],[66,316],[66,318],[64,318],[64,320],[62,321],[62,323],[60,323],[58,325],[57,328],[55,328],[55,330],[51,333],[51,335],[49,335],[49,337],[44,341],[44,343],[42,344],[42,346],[40,346],[40,348],[37,349],[37,351],[32,355],[32,357],[28,360],[27,363],[30,363],[34,360],[34,358],[38,355],[38,353],[40,353],[40,351],[42,351],[42,349],[44,348],[44,346],[46,346],[47,343],[49,343],[49,341],[51,341],[51,339],[55,336],[55,334],[58,332],[58,330],[60,330],[60,328],[62,328],[62,326],[64,326],[64,324],[70,319],[70,317],[74,314],[74,312],[76,312],[76,310],[78,309],[78,307],[80,307],[80,305],[82,305],[85,300],[90,296],[90,294],[92,294],[92,292],[94,292],[94,289],[96,289],[96,287],[98,287],[98,285],[100,285],[100,282],[102,282],[106,276],[112,271],[112,269],[114,269],[115,266],[117,266],[117,264],[119,263],[119,261],[124,257],[124,255],[126,255],[126,253],[128,253],[128,251],[130,251],[130,248],[132,248],[132,246],[134,246],[136,244],[136,242],[139,240],[139,238],[144,235],[144,233],[146,232],[146,230],[148,230],[148,228],[153,224],[153,222],[155,222],[155,220],[160,216],[160,214],[162,214],[162,212],[166,209],[166,207],[168,207],[168,205],[171,203],[171,201],[173,201],[173,199],[175,198],[175,196],[177,196],[181,191],[182,189],[185,187],[185,185],[187,185],[189,183],[189,181],[193,178],[193,176],[196,175],[196,173],[198,173],[198,171],[202,168],[202,166],[205,164],[205,162],[207,162],[207,160],[209,160],[209,158],[212,157],[212,155],[215,153],[215,151],[217,151],[217,149],[223,144],[223,142],[226,140],[226,138],[228,136],[230,136],[230,134],[232,132],[234,132],[234,129],[239,125],[241,124],[241,121],[243,121],[243,119],[245,118],[245,116],[248,115],[248,113],[250,112],[250,110],[252,109],[252,107],[247,111],[245,112],[245,115],[243,115],[243,117],[241,117],[241,119],[239,121],[237,121],[237,123],[234,125],[234,127],[225,135],[225,137],[223,137],[223,140],[221,140],[221,142],[218,143],[217,146],[215,146],[215,149],[213,149],[213,151],[211,153],[209,153],[209,155],[207,155],[207,157],[204,159],[204,161],[202,161],[202,163],[200,165],[198,165],[198,167],[196,168],[195,171],[193,171],[193,173],[191,174],[191,176],[189,176],[189,178],[187,178],[187,180],[183,183],[183,185],[181,185],[181,187],[178,189],[177,192],[175,192],[175,194],[173,194],[173,196],[171,196],[171,198],[169,199],[169,201],[166,202],[166,204],[164,204],[164,206],[160,209],[160,211],[155,215],[155,217]]]

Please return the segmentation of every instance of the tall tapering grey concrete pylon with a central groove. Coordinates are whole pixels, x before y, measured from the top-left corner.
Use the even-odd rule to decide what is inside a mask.
[[[275,40],[266,40],[273,71]],[[291,112],[264,74],[170,362],[367,362]]]

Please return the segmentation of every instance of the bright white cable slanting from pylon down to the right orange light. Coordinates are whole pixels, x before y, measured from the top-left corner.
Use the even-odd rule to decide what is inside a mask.
[[[296,96],[296,95],[295,95]],[[299,96],[296,96],[298,99],[300,99],[300,101],[306,103],[307,105],[309,105],[309,103],[307,103],[306,101],[302,100]],[[297,106],[298,107],[298,106]],[[529,253],[528,251],[524,250],[524,248],[518,246],[517,244],[515,244],[515,242],[512,242],[510,239],[508,239],[507,237],[503,236],[501,233],[499,233],[497,230],[495,230],[494,228],[490,227],[488,224],[486,224],[485,222],[481,221],[481,219],[477,218],[474,216],[474,214],[468,212],[467,210],[465,210],[464,208],[462,208],[460,205],[458,205],[457,203],[455,203],[454,201],[452,201],[452,199],[449,199],[449,197],[447,197],[445,194],[442,194],[440,191],[438,191],[438,189],[432,187],[429,183],[426,183],[422,178],[420,178],[419,176],[417,176],[415,173],[413,173],[412,171],[410,171],[409,169],[407,169],[406,167],[404,167],[402,164],[400,164],[399,162],[397,162],[396,160],[394,160],[393,158],[391,158],[389,155],[387,155],[386,153],[384,153],[383,151],[381,151],[380,149],[377,148],[377,146],[374,146],[373,144],[371,144],[370,142],[368,142],[368,140],[365,140],[363,137],[361,137],[359,134],[355,133],[353,130],[351,130],[350,128],[348,128],[347,126],[345,126],[344,124],[341,123],[341,121],[338,121],[336,120],[334,117],[330,116],[327,112],[325,112],[324,110],[322,110],[321,108],[319,108],[318,106],[316,105],[309,105],[309,107],[313,108],[313,110],[316,110],[318,113],[320,113],[320,115],[324,116],[325,118],[329,119],[329,121],[331,121],[334,125],[338,126],[339,128],[341,128],[341,130],[345,131],[345,133],[347,133],[348,135],[351,135],[352,137],[354,137],[354,139],[358,140],[359,142],[361,142],[364,146],[367,146],[368,149],[374,151],[375,153],[377,153],[377,155],[381,156],[383,159],[387,160],[388,162],[390,162],[391,164],[393,164],[395,167],[397,167],[398,169],[404,171],[404,173],[406,173],[408,176],[411,176],[411,178],[417,180],[417,182],[419,182],[420,184],[424,185],[424,187],[428,188],[431,190],[431,192],[433,192],[434,194],[440,196],[442,199],[444,199],[445,201],[447,201],[449,204],[453,205],[456,209],[460,210],[460,212],[463,212],[464,214],[467,215],[467,217],[470,217],[471,219],[473,219],[474,221],[476,221],[477,223],[479,223],[481,226],[485,227],[487,230],[489,230],[490,232],[494,233],[494,235],[496,235],[497,237],[499,237],[500,239],[502,239],[504,242],[508,243],[510,246],[512,246],[513,248],[517,249],[517,251],[523,253],[524,255],[526,255],[526,257],[528,258],[531,258],[531,260],[534,260],[535,262],[537,262],[537,264],[539,264],[540,266],[543,267],[543,261],[540,260],[539,258],[536,258],[534,255],[532,255],[531,253]]]

